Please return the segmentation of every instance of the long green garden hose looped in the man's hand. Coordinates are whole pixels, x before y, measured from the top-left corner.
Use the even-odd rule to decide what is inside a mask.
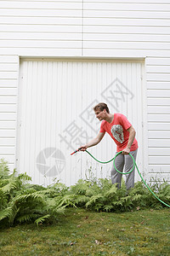
[[[93,154],[90,154],[90,153],[88,152],[88,150],[85,150],[85,151],[86,151],[91,157],[93,157],[94,160],[96,160],[96,161],[99,162],[100,164],[108,164],[108,163],[110,163],[110,162],[113,160],[113,166],[115,167],[115,169],[116,169],[116,166],[115,166],[115,159],[116,159],[116,156],[117,156],[118,154],[122,154],[122,151],[120,151],[120,152],[118,152],[118,153],[116,154],[116,156],[113,157],[111,160],[102,162],[102,161],[97,160],[97,159],[94,157]],[[116,172],[119,172],[119,173],[121,173],[121,174],[128,174],[128,173],[130,173],[130,172],[133,172],[135,166],[136,166],[137,171],[139,172],[139,168],[138,168],[138,166],[137,166],[135,160],[133,159],[133,155],[132,155],[132,154],[129,154],[129,155],[132,157],[132,160],[133,160],[133,169],[132,169],[131,171],[129,171],[129,172],[120,172],[120,171],[118,171],[118,170],[116,169]],[[142,175],[140,174],[140,172],[139,172],[139,176],[141,177],[142,181],[144,182],[144,178],[142,177]],[[154,192],[150,189],[150,187],[149,187],[145,182],[144,182],[144,185],[150,190],[151,194],[154,195],[157,200],[161,201],[161,199],[160,199],[159,197],[157,197],[156,194],[154,194]],[[167,203],[165,203],[164,201],[161,201],[161,203],[164,204],[166,207],[170,207],[170,206],[167,205]]]

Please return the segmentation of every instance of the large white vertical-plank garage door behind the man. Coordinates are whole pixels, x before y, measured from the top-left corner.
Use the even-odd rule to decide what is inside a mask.
[[[109,177],[86,153],[71,152],[99,132],[93,107],[106,102],[111,113],[123,113],[137,131],[138,165],[144,171],[144,86],[141,61],[21,60],[17,169],[33,183],[55,180],[71,185],[83,177]],[[110,160],[116,145],[105,135],[89,148],[99,160]],[[136,180],[138,175],[136,175]]]

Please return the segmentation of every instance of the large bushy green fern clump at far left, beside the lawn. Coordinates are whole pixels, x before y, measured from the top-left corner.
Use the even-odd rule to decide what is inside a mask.
[[[54,184],[43,188],[31,185],[31,177],[26,173],[17,176],[14,170],[9,174],[7,162],[0,164],[0,224],[56,221],[59,213],[63,213],[66,205],[62,202],[64,184]],[[62,192],[62,193],[60,193]]]

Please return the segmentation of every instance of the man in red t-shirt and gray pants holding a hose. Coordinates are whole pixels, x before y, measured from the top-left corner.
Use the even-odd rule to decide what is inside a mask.
[[[111,138],[115,141],[116,153],[122,151],[122,154],[118,154],[115,160],[116,169],[120,172],[129,172],[133,168],[133,160],[136,160],[138,142],[135,138],[136,131],[133,125],[129,123],[127,118],[122,113],[110,113],[109,108],[103,102],[94,107],[96,118],[102,121],[100,125],[100,131],[97,137],[92,139],[86,145],[83,145],[79,150],[85,151],[87,148],[97,145],[105,136],[105,132],[108,132]],[[115,167],[111,169],[111,182],[117,183],[118,188],[121,187],[122,174],[116,172]],[[134,170],[126,175],[127,190],[134,186]]]

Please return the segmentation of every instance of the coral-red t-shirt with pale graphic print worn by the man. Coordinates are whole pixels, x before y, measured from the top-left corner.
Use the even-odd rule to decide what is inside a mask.
[[[117,145],[117,152],[122,151],[122,149],[127,147],[129,132],[127,131],[128,128],[132,126],[129,121],[127,120],[126,116],[122,113],[114,113],[114,119],[112,120],[111,124],[106,122],[105,120],[102,121],[100,126],[100,132],[108,132],[112,139],[115,141]],[[133,140],[133,144],[130,148],[130,151],[134,151],[138,148],[138,142],[136,138]]]

